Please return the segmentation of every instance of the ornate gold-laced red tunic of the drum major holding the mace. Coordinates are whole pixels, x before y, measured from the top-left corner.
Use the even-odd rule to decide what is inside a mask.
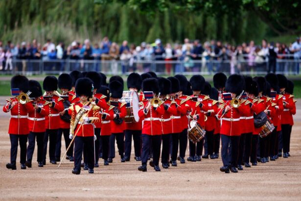
[[[70,122],[70,133],[80,137],[91,137],[94,136],[94,122],[100,121],[100,116],[98,113],[99,107],[97,105],[88,102],[88,104],[83,104],[81,101],[75,102],[69,107],[71,110],[71,122]],[[84,111],[83,115],[79,118],[77,114]],[[84,118],[89,117],[91,121],[84,122]],[[77,121],[77,119],[79,121]],[[77,123],[77,124],[76,124]],[[82,126],[80,126],[82,125]]]

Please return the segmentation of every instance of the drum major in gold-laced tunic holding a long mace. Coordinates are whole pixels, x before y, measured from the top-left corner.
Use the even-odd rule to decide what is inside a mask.
[[[80,166],[83,154],[83,147],[87,148],[87,163],[89,173],[94,173],[94,150],[95,140],[93,123],[99,122],[100,109],[94,102],[90,102],[93,96],[93,81],[89,78],[79,78],[75,84],[76,95],[80,101],[69,107],[71,114],[69,138],[74,139],[74,168],[72,173],[80,174]],[[74,136],[75,135],[75,136]]]

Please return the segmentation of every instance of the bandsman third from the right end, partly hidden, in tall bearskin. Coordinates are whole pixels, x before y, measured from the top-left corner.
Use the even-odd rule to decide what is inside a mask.
[[[271,92],[272,91],[279,91],[278,87],[278,77],[277,75],[273,73],[269,73],[265,75],[266,80],[271,85]],[[272,94],[271,94],[272,96]],[[283,95],[280,95],[279,93],[276,94],[276,96],[273,95],[272,103],[276,104],[276,113],[275,117],[273,118],[273,124],[275,126],[274,131],[271,133],[271,141],[270,141],[270,158],[272,160],[277,159],[278,157],[278,133],[281,130],[281,123],[280,123],[280,115],[283,111]],[[269,162],[268,158],[266,159],[266,162]]]

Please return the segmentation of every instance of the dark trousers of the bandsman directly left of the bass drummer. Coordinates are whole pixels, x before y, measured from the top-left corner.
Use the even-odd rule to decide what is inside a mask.
[[[119,155],[123,156],[123,153],[124,153],[124,134],[123,134],[123,132],[112,133],[110,135],[110,141],[109,141],[109,158],[115,158],[115,138],[116,138]]]

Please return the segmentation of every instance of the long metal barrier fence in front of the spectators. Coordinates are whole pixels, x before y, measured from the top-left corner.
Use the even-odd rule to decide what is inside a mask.
[[[285,75],[299,75],[301,59],[277,59],[276,73]],[[127,75],[131,72],[154,71],[158,75],[211,75],[215,72],[226,74],[240,73],[243,75],[266,74],[273,64],[268,61],[255,62],[250,60],[19,60],[12,61],[7,70],[0,71],[0,74],[60,74],[63,72],[97,71],[108,75]],[[270,68],[273,71],[273,67]]]

